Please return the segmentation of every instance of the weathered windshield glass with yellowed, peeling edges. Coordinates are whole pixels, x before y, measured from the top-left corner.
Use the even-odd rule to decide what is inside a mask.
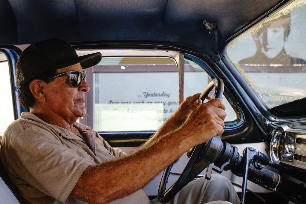
[[[229,44],[226,54],[267,108],[306,97],[306,1],[294,1]]]

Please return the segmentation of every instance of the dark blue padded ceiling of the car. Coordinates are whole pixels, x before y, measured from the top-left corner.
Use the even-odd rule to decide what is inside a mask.
[[[50,38],[70,42],[171,42],[213,55],[282,0],[0,0],[0,45]],[[212,34],[203,20],[217,24]]]

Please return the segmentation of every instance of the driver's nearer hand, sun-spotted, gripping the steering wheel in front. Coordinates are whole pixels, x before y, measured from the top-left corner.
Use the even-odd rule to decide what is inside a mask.
[[[223,133],[225,117],[225,105],[219,98],[200,104],[181,126],[182,136],[188,137],[188,143],[194,144],[192,146],[204,143]]]

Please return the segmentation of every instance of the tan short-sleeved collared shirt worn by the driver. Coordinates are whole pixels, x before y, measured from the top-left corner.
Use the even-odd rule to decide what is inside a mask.
[[[0,159],[28,203],[87,203],[68,198],[89,165],[125,155],[91,128],[74,123],[91,148],[77,135],[50,125],[29,112],[9,125],[3,135]],[[106,184],[107,185],[107,184]],[[139,190],[111,203],[149,203]]]

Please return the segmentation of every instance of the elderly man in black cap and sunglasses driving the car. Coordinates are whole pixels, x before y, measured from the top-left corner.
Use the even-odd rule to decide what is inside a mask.
[[[149,201],[141,188],[191,147],[222,134],[224,104],[220,99],[202,104],[196,94],[133,153],[110,147],[97,132],[76,123],[86,113],[89,90],[83,69],[100,60],[100,53],[78,57],[59,39],[33,43],[19,57],[17,87],[29,112],[7,128],[0,158],[26,202],[159,203]],[[171,203],[214,200],[239,203],[230,182],[220,176],[188,184]]]

